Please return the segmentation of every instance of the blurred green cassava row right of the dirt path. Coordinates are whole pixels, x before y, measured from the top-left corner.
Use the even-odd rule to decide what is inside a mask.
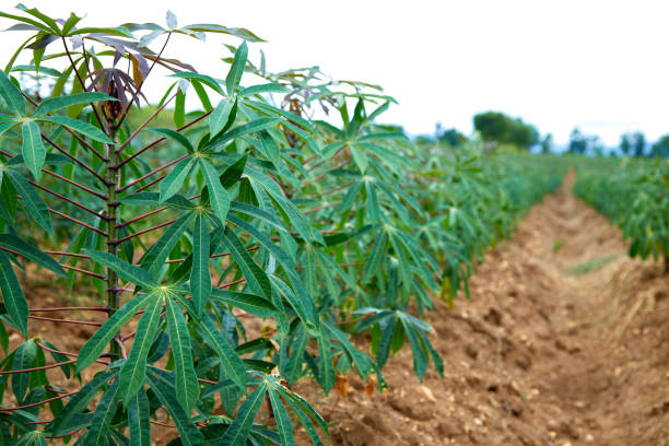
[[[667,160],[588,159],[577,167],[576,195],[621,228],[631,257],[664,258],[669,272]]]

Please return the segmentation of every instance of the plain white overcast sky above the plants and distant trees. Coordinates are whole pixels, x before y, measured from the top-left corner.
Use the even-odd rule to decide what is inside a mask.
[[[489,109],[520,116],[542,133],[553,132],[558,143],[568,140],[574,126],[610,145],[627,130],[641,129],[652,141],[669,132],[667,1],[24,3],[62,17],[70,11],[87,14],[83,25],[164,24],[171,9],[180,25],[247,27],[269,40],[251,45],[251,57],[258,60],[263,48],[270,70],[319,64],[334,79],[383,85],[400,105],[382,120],[411,133],[431,133],[437,121],[470,133],[472,116]],[[14,4],[0,0],[0,10],[14,12]],[[0,21],[2,28],[7,24]],[[21,36],[2,35],[2,66]],[[166,56],[223,78],[226,67],[219,58],[227,52],[218,45],[177,43]]]

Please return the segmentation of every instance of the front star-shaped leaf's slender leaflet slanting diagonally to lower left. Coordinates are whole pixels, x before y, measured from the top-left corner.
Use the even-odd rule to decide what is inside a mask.
[[[109,341],[118,333],[121,327],[125,326],[137,312],[150,303],[152,298],[155,298],[156,295],[160,295],[159,292],[137,296],[114,312],[111,317],[109,317],[109,319],[107,319],[107,321],[103,324],[97,331],[95,331],[91,339],[89,339],[79,351],[77,373],[81,373],[89,365],[93,364],[107,348]]]

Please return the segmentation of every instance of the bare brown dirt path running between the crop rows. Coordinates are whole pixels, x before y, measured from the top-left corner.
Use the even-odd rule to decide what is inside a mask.
[[[669,445],[669,277],[629,259],[571,183],[486,256],[470,301],[429,316],[443,379],[420,384],[404,348],[385,396],[297,386],[334,444]]]

